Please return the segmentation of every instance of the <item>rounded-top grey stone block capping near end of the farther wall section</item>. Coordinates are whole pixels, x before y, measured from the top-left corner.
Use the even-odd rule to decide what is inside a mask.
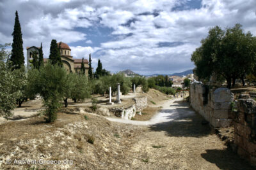
[[[234,94],[227,88],[218,88],[213,93],[214,102],[232,102],[234,101]]]

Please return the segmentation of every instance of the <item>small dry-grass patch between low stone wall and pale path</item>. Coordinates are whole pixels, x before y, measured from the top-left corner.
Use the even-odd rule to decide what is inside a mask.
[[[136,114],[134,119],[139,121],[150,120],[161,108],[147,107],[141,111],[141,115]]]

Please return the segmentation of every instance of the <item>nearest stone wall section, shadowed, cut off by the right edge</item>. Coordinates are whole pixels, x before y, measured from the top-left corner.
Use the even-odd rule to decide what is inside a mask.
[[[238,99],[234,118],[234,143],[237,153],[256,166],[256,102]]]

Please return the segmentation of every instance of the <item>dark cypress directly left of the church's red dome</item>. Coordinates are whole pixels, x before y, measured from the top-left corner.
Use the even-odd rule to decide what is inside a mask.
[[[59,46],[60,45],[61,43],[59,44]],[[56,39],[52,39],[49,60],[51,61],[52,65],[58,64],[58,66],[63,66],[60,57],[60,47],[58,48]]]

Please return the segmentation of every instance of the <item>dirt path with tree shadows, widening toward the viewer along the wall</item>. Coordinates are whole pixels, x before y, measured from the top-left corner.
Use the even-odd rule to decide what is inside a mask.
[[[108,118],[112,121],[117,119]],[[136,143],[120,157],[129,169],[252,169],[231,152],[202,117],[178,100],[168,101],[163,110],[147,122],[118,120],[148,125]]]

